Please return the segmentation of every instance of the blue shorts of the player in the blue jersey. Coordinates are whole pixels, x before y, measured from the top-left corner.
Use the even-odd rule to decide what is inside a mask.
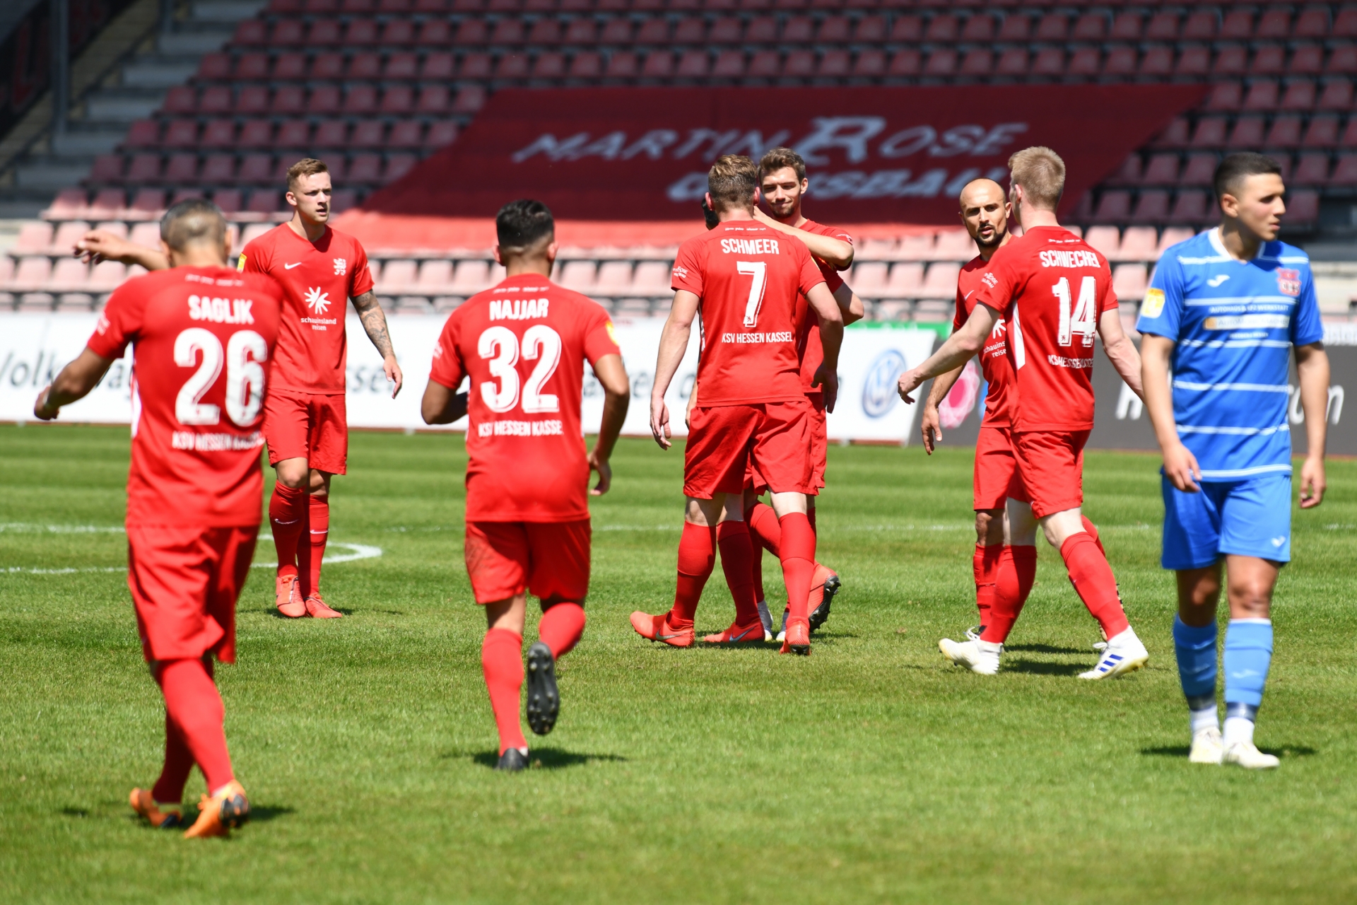
[[[1164,488],[1164,569],[1204,569],[1227,554],[1291,562],[1291,475]]]

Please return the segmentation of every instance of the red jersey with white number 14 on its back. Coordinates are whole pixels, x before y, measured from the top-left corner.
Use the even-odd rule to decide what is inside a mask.
[[[1063,227],[1035,227],[989,259],[977,293],[1008,327],[1014,430],[1092,430],[1094,336],[1117,307],[1107,261]]]

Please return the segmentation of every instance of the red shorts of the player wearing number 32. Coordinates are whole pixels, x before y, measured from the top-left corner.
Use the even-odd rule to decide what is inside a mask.
[[[588,518],[468,521],[467,574],[478,604],[531,592],[540,600],[585,602],[589,593]]]

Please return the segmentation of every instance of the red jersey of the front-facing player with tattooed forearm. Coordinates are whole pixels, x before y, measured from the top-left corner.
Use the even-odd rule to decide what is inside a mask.
[[[353,236],[326,227],[318,242],[281,224],[240,252],[243,273],[263,273],[284,289],[286,305],[273,388],[337,396],[345,391],[349,300],[372,289],[368,254]]]

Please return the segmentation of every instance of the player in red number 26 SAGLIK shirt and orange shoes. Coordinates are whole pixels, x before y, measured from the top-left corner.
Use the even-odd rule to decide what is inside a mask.
[[[187,837],[225,836],[250,817],[227,752],[212,657],[236,659],[235,611],[259,533],[265,384],[282,309],[267,278],[227,266],[227,224],[214,205],[183,201],[160,221],[171,269],[122,284],[80,355],[38,395],[57,417],[133,346],[128,586],[141,650],[166,701],[166,756],[132,807],[155,826],[183,820],[197,764],[208,795]]]

